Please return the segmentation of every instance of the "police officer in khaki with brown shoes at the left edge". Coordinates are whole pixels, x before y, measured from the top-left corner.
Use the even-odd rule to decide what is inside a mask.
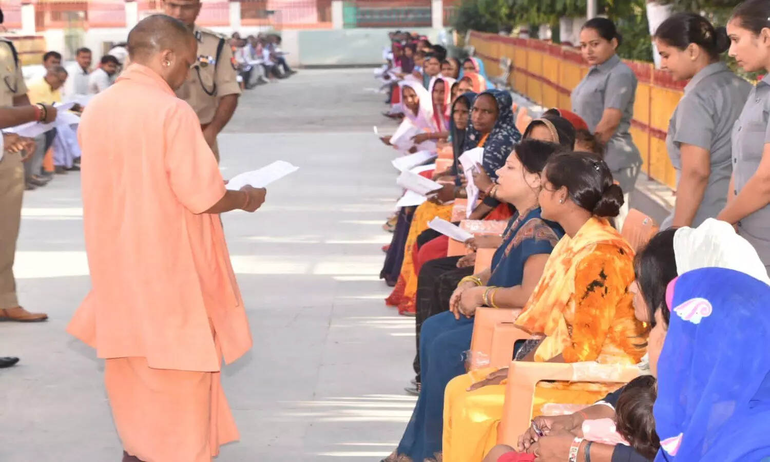
[[[2,24],[2,12],[0,12]],[[45,105],[30,105],[24,84],[22,66],[13,44],[0,38],[0,129],[35,120],[52,122],[56,109]],[[22,220],[24,195],[24,166],[26,155],[35,151],[31,139],[19,139],[4,134],[0,159],[0,320],[35,322],[48,319],[44,313],[29,313],[18,306],[13,260],[16,253],[18,228]],[[18,145],[24,149],[18,149]],[[0,358],[0,367],[3,359]]]

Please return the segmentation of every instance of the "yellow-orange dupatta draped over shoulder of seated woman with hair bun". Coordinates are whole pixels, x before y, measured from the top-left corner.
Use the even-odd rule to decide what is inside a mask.
[[[634,256],[634,250],[606,219],[588,219],[574,237],[561,238],[545,264],[543,276],[516,320],[517,326],[546,336],[535,353],[535,361],[560,355],[570,344],[564,314],[574,310],[577,266],[598,244],[612,244]]]

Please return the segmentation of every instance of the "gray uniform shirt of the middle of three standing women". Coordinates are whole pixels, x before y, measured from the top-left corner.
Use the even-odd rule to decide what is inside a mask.
[[[725,208],[732,174],[732,128],[751,91],[752,85],[735,75],[724,62],[715,62],[701,69],[685,86],[685,95],[671,115],[666,149],[676,170],[677,184],[681,178],[681,145],[698,146],[710,152],[711,174],[692,227],[700,226],[707,218],[716,218]],[[661,229],[670,227],[673,220],[671,213]]]

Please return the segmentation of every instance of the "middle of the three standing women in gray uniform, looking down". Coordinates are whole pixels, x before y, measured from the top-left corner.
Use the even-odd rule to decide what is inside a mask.
[[[676,169],[677,195],[674,212],[661,227],[700,226],[727,203],[732,127],[752,85],[719,61],[730,46],[727,31],[701,15],[671,16],[654,41],[661,69],[675,80],[690,80],[668,122],[666,148]]]

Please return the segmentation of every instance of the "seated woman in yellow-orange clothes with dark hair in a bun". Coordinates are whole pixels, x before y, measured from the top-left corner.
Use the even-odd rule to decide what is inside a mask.
[[[639,345],[644,328],[634,318],[628,293],[634,280],[634,251],[608,221],[618,215],[623,196],[607,164],[586,153],[557,154],[545,168],[539,203],[543,217],[559,223],[567,235],[516,320],[534,335],[517,351],[516,359],[638,363],[644,353]],[[474,375],[484,377],[487,371]],[[445,462],[480,461],[497,444],[505,398],[500,383],[505,377],[507,368],[488,373],[477,383],[468,374],[449,383]],[[546,400],[592,403],[606,394],[598,384],[586,385],[569,390],[547,387]]]

